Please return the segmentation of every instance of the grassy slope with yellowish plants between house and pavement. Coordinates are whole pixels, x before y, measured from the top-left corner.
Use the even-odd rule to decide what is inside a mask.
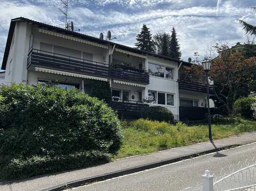
[[[179,146],[192,145],[208,140],[208,126],[187,126],[182,122],[172,125],[166,122],[139,119],[123,122],[124,140],[116,158],[152,153]],[[231,124],[213,124],[214,139],[256,131],[256,121],[237,119]]]

